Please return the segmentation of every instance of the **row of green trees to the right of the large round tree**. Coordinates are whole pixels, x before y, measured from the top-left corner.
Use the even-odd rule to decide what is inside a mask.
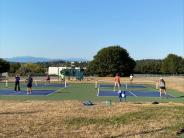
[[[169,54],[163,60],[137,60],[134,72],[142,74],[184,74],[184,58]]]

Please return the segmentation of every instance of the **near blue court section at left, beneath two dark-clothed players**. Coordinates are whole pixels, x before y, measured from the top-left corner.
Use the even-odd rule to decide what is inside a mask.
[[[50,95],[56,90],[33,90],[31,95]],[[27,95],[27,91],[0,90],[0,95]]]

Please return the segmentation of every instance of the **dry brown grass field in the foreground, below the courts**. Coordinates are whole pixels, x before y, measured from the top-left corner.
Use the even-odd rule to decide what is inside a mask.
[[[0,137],[173,137],[182,103],[0,101]]]

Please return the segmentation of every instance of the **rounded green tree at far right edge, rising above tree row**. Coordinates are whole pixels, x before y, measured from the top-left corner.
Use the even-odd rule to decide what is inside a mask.
[[[183,59],[175,54],[169,54],[164,60],[161,67],[163,73],[178,74],[183,72]]]

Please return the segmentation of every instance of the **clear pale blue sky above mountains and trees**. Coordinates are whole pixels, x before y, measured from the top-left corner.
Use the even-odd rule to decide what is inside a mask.
[[[184,0],[0,0],[0,57],[184,56]]]

